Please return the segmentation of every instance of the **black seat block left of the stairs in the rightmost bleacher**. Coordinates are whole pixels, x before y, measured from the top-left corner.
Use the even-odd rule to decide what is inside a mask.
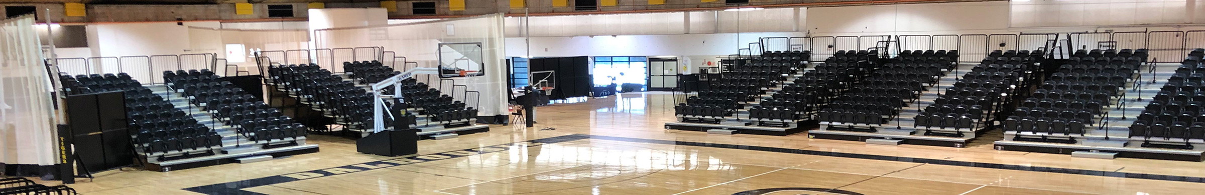
[[[1089,126],[1104,125],[1109,111],[1119,106],[1142,60],[1130,49],[1077,51],[1018,102],[1004,120],[1005,140],[1081,142]]]

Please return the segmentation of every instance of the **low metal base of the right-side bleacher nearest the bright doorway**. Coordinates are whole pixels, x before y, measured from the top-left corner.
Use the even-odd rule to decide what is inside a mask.
[[[707,123],[681,123],[670,122],[665,123],[665,129],[686,130],[686,131],[707,131],[712,129],[733,130],[733,134],[752,134],[752,135],[772,135],[772,136],[787,136],[792,134],[799,134],[810,129],[816,129],[819,125],[816,120],[800,120],[794,128],[775,128],[775,126],[758,126],[753,125],[754,122],[743,122],[729,124],[728,122],[721,124],[707,124]]]

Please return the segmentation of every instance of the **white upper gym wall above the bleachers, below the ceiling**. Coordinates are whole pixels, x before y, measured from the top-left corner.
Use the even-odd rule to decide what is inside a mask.
[[[1205,0],[982,1],[847,7],[765,8],[630,14],[531,17],[531,54],[522,17],[505,18],[507,57],[575,55],[727,55],[756,37],[844,35],[1017,34],[1074,31],[1157,31],[1205,29]],[[1139,12],[1152,12],[1145,14]],[[1153,11],[1159,10],[1157,14]],[[1098,17],[1107,12],[1107,17]],[[740,36],[736,40],[736,16]],[[1122,18],[1122,19],[1118,19]],[[1124,18],[1134,18],[1127,20]],[[389,19],[388,24],[430,19]],[[186,25],[228,29],[296,29],[306,22],[217,23]],[[90,55],[77,48],[60,58],[213,53],[189,46],[176,23],[88,24]],[[1071,25],[1071,26],[1065,26]],[[307,26],[307,25],[305,25]],[[149,31],[149,32],[148,32]],[[129,35],[114,35],[130,32]],[[148,35],[151,34],[151,35]],[[146,36],[143,36],[146,35]],[[93,37],[95,36],[95,37]],[[593,37],[590,37],[593,36]],[[120,40],[120,41],[118,41]],[[184,39],[187,40],[187,39]],[[728,46],[728,47],[725,47]],[[130,48],[130,49],[117,49]],[[117,51],[113,51],[117,49]],[[386,47],[386,51],[408,49]],[[547,49],[547,51],[546,51]],[[104,51],[104,52],[102,52]],[[111,51],[111,52],[110,52]]]

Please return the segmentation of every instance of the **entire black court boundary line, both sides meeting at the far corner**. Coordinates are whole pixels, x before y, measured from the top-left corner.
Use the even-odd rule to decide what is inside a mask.
[[[318,177],[360,172],[366,170],[376,170],[382,167],[392,167],[399,165],[410,165],[427,161],[447,160],[463,156],[480,155],[487,153],[496,153],[509,150],[510,146],[540,146],[548,143],[560,143],[569,141],[578,141],[587,138],[609,140],[609,141],[622,141],[622,142],[635,142],[635,143],[657,143],[657,144],[675,144],[675,146],[694,146],[694,147],[709,147],[709,148],[728,148],[728,149],[747,149],[747,150],[760,150],[760,152],[774,152],[774,153],[790,153],[790,154],[806,154],[806,155],[823,155],[823,156],[837,156],[837,158],[853,158],[853,159],[870,159],[870,160],[887,160],[887,161],[900,161],[900,162],[918,162],[918,164],[934,164],[934,165],[950,165],[950,166],[965,166],[965,167],[981,167],[981,169],[998,169],[998,170],[1015,170],[1015,171],[1033,171],[1033,172],[1053,172],[1053,173],[1069,173],[1069,175],[1084,175],[1084,176],[1100,176],[1100,177],[1118,177],[1118,178],[1138,178],[1138,179],[1153,179],[1153,181],[1171,181],[1171,182],[1192,182],[1192,183],[1205,183],[1203,177],[1188,177],[1188,176],[1168,176],[1168,175],[1146,175],[1146,173],[1131,173],[1131,172],[1116,172],[1116,171],[1093,171],[1093,170],[1077,170],[1077,169],[1059,169],[1059,167],[1045,167],[1045,166],[1023,166],[1023,165],[1005,165],[1005,164],[989,164],[989,162],[972,162],[972,161],[957,161],[957,160],[941,160],[941,159],[924,159],[924,158],[904,158],[904,156],[890,156],[890,155],[874,155],[874,154],[854,154],[854,153],[839,153],[839,152],[823,152],[823,150],[806,150],[806,149],[790,149],[790,148],[775,148],[775,147],[759,147],[759,146],[745,146],[745,144],[724,144],[724,143],[703,143],[703,142],[686,142],[686,141],[666,141],[666,140],[648,140],[648,138],[631,138],[631,137],[613,137],[613,136],[598,136],[598,135],[583,135],[574,134],[548,138],[531,140],[527,142],[515,142],[505,144],[495,144],[481,148],[452,150],[445,153],[435,153],[427,155],[417,155],[408,158],[398,158],[381,161],[371,161],[364,164],[347,165],[340,167],[313,170],[305,172],[294,172],[280,176],[260,177],[237,182],[227,182],[219,184],[210,184],[201,187],[186,188],[183,190],[208,194],[208,195],[264,195],[254,191],[242,190],[245,188],[254,188],[271,184],[280,184],[287,182],[296,182]]]

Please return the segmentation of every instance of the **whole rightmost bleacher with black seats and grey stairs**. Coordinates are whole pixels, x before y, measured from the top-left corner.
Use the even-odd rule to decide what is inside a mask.
[[[1165,66],[1150,63],[1146,49],[1076,51],[1047,75],[1031,99],[1018,102],[1005,123],[1005,140],[995,148],[1203,161],[1205,148],[1198,147],[1203,142],[1192,137],[1193,126],[1200,124],[1194,85],[1203,79],[1197,70],[1205,67],[1194,55],[1201,52]],[[1205,93],[1200,96],[1205,100]]]

